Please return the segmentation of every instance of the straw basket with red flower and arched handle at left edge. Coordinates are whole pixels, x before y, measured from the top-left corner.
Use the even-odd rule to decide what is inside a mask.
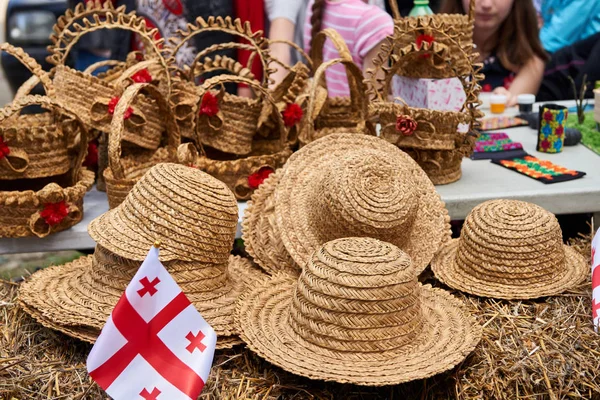
[[[0,180],[0,237],[45,237],[50,233],[59,232],[70,228],[83,217],[83,197],[94,183],[94,173],[82,168],[82,163],[87,152],[87,131],[77,116],[68,113],[64,106],[49,97],[25,96],[17,99],[0,112],[0,129],[2,134],[6,130],[15,130],[15,121],[20,123],[19,113],[29,105],[39,105],[50,110],[50,115],[68,115],[79,125],[79,152],[76,159],[72,160],[72,167],[64,170],[63,163],[52,165],[54,157],[65,158],[67,142],[60,138],[60,132],[53,132],[46,140],[45,129],[29,128],[16,129],[17,134],[35,134],[41,137],[33,138],[39,147],[38,154],[33,154],[31,161],[36,158],[41,164],[32,163],[29,168],[39,168],[44,171],[36,179]],[[16,118],[15,118],[16,117]],[[47,127],[47,126],[46,126]],[[31,138],[30,138],[31,139]],[[9,136],[9,150],[12,137]],[[23,143],[23,142],[21,142]],[[62,144],[62,148],[58,144]],[[40,151],[40,149],[42,151]],[[3,149],[4,151],[5,149]],[[43,151],[48,154],[44,155]],[[15,151],[16,153],[16,151]],[[43,162],[45,159],[48,162]],[[60,168],[57,166],[60,165]],[[64,170],[64,171],[63,171]]]

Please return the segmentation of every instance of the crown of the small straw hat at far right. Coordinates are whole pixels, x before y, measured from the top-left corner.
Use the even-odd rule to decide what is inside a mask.
[[[491,200],[475,207],[462,228],[457,265],[495,283],[551,282],[564,268],[556,217],[535,204]]]

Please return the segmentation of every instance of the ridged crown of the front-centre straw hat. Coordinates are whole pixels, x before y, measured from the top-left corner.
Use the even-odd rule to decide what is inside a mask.
[[[423,326],[419,288],[410,257],[398,247],[373,238],[333,240],[303,269],[289,322],[326,349],[397,349]]]

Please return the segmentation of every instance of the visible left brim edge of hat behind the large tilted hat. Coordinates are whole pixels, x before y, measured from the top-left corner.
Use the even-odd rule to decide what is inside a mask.
[[[267,273],[298,275],[301,268],[285,249],[275,221],[273,192],[279,182],[280,171],[278,169],[269,175],[248,202],[242,222],[242,239],[248,254]]]

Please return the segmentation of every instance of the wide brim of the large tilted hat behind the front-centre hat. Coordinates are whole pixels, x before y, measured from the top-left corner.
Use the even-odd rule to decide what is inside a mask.
[[[441,245],[451,237],[450,216],[433,183],[405,152],[385,140],[367,135],[331,134],[294,153],[284,166],[274,191],[276,223],[285,248],[300,265],[323,245],[309,220],[309,191],[312,181],[322,176],[323,165],[351,150],[374,149],[402,158],[414,179],[418,209],[408,240],[385,238],[410,255],[417,273],[428,265]],[[348,236],[355,232],[348,232]],[[404,236],[404,235],[403,235]],[[400,238],[399,238],[400,239]]]

